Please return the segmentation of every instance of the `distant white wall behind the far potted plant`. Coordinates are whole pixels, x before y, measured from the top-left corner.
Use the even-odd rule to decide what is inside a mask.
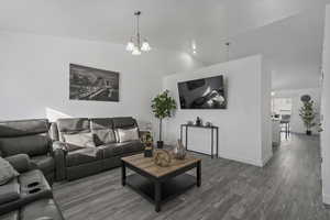
[[[302,107],[300,97],[304,95],[309,95],[315,101],[317,118],[316,122],[320,121],[320,103],[321,103],[321,90],[319,88],[308,88],[308,89],[294,89],[294,90],[276,90],[274,98],[290,98],[293,101],[292,118],[290,118],[290,130],[295,133],[306,133],[306,128],[299,116],[299,109]],[[318,134],[318,128],[312,128],[312,133]]]

